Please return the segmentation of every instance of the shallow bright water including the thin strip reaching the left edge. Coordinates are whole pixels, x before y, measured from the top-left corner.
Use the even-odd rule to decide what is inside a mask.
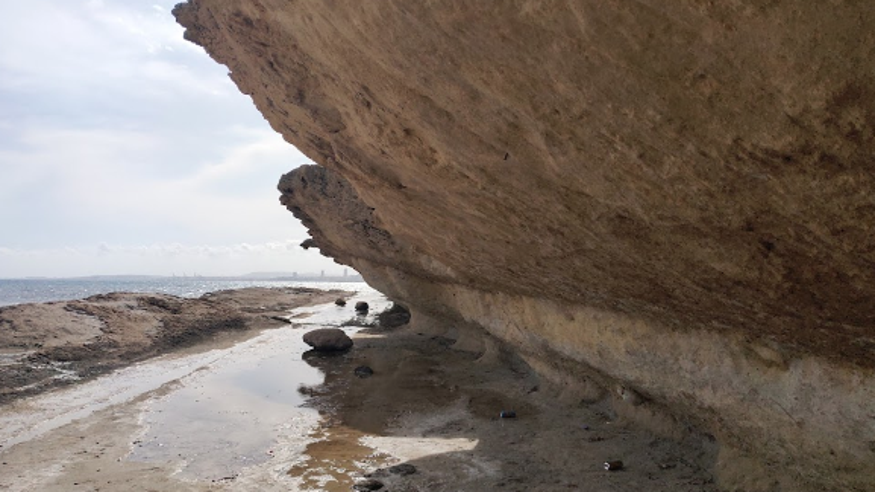
[[[370,287],[356,287],[352,304],[364,300],[371,313],[390,304]],[[0,411],[0,445],[9,449],[107,407],[146,398],[129,460],[172,463],[183,478],[218,480],[278,452],[300,452],[319,416],[301,407],[305,397],[298,388],[323,379],[303,360],[309,347],[302,336],[353,318],[352,304],[298,308],[290,312],[293,326],[266,330],[228,348],[168,354],[17,401]]]

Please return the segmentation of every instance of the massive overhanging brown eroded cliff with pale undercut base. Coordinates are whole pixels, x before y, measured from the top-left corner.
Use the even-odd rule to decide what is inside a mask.
[[[323,253],[588,398],[714,435],[728,488],[875,487],[868,2],[175,14],[322,166],[280,189]]]

